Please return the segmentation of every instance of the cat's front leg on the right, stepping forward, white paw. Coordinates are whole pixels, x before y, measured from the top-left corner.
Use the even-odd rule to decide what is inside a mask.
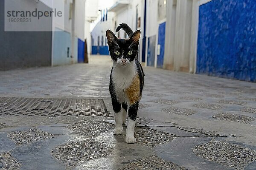
[[[136,138],[134,138],[134,127],[137,119],[139,102],[136,102],[129,106],[128,108],[128,125],[126,128],[126,136],[125,142],[133,144],[136,142]]]

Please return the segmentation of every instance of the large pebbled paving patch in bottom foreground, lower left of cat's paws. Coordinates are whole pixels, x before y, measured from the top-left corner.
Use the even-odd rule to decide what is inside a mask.
[[[107,156],[113,148],[96,142],[94,139],[79,142],[70,142],[52,149],[51,154],[55,159],[60,160],[68,168],[78,163]]]

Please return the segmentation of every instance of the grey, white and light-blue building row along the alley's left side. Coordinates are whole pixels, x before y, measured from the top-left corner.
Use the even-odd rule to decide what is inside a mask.
[[[60,10],[63,17],[48,17],[38,29],[5,31],[6,3],[21,11]],[[85,0],[1,0],[0,1],[0,70],[35,66],[56,66],[79,61],[84,51]],[[23,24],[25,25],[25,24]],[[26,25],[25,25],[26,26]],[[30,30],[29,30],[30,29]]]

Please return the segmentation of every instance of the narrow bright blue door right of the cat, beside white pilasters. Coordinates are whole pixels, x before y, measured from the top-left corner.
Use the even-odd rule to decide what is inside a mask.
[[[166,22],[161,23],[158,27],[158,45],[160,45],[160,54],[157,55],[157,67],[163,68],[164,40],[165,40]]]

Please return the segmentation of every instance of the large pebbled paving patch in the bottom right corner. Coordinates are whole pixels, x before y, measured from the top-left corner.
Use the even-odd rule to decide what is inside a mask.
[[[243,170],[256,161],[256,150],[224,141],[210,141],[193,147],[193,152],[208,161],[213,161],[234,170]]]

